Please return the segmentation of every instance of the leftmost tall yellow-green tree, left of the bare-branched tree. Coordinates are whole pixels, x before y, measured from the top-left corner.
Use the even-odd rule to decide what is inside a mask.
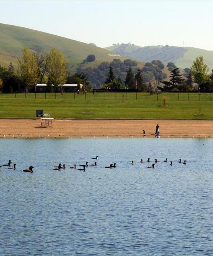
[[[32,52],[28,48],[23,48],[23,57],[18,58],[18,74],[26,92],[38,82],[38,65]]]

